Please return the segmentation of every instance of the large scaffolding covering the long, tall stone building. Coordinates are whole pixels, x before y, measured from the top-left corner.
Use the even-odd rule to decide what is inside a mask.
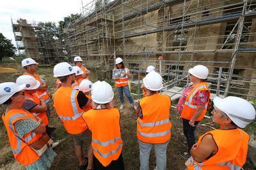
[[[123,58],[136,95],[148,65],[174,96],[188,83],[188,69],[201,64],[209,68],[212,95],[256,97],[255,0],[97,0],[63,36],[68,58],[81,56],[104,77]]]

